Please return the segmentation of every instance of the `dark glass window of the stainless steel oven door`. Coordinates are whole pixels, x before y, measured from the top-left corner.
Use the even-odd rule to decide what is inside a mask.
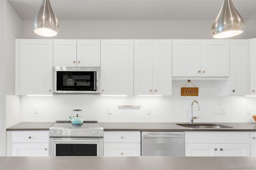
[[[97,144],[56,144],[56,156],[97,156]]]

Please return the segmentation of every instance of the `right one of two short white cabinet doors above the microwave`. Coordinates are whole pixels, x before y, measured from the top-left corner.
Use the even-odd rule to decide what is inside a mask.
[[[77,40],[77,66],[100,67],[100,40]]]

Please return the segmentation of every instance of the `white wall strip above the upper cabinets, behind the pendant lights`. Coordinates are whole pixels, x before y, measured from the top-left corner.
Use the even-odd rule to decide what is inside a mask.
[[[60,20],[54,39],[212,39],[213,20]],[[22,21],[22,38],[39,39],[33,20]],[[256,20],[245,20],[243,34],[234,39],[256,38]],[[50,38],[51,39],[51,38]]]

